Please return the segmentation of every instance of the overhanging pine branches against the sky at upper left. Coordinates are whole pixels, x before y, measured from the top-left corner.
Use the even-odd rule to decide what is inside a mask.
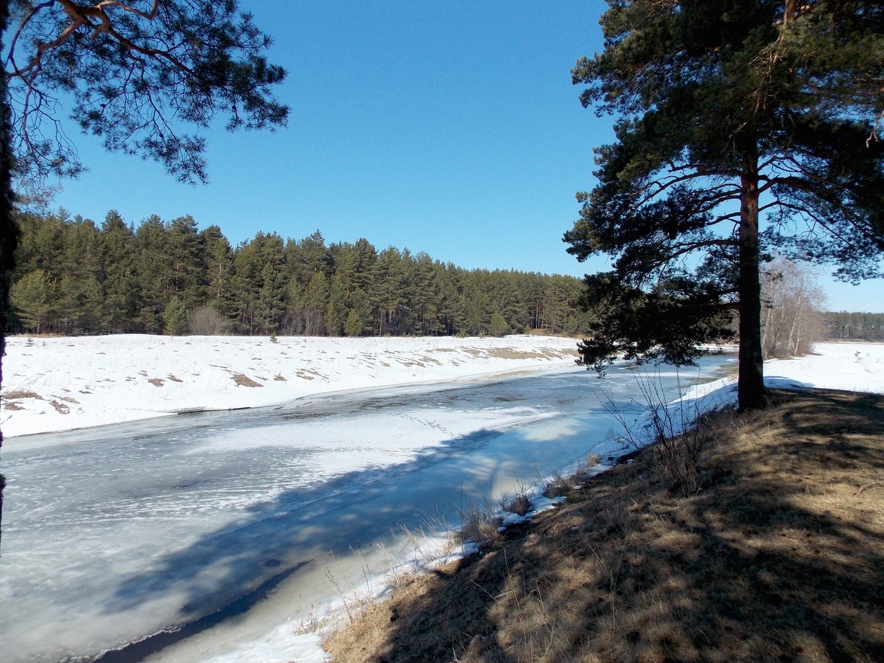
[[[206,128],[219,115],[229,130],[286,125],[288,108],[273,95],[286,72],[267,61],[271,38],[235,0],[47,0],[18,9],[4,74],[19,186],[84,168],[59,134],[62,98],[72,99],[75,125],[106,149],[154,159],[190,183],[208,179],[205,141],[183,126]]]

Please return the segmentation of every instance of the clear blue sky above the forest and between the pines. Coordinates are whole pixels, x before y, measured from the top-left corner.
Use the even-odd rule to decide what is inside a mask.
[[[598,0],[242,0],[275,40],[292,109],[277,133],[207,135],[210,185],[71,136],[90,171],[55,205],[100,223],[190,214],[233,244],[255,232],[365,237],[466,268],[583,276],[561,235],[594,185],[610,118],[584,110],[577,57],[602,50]],[[884,281],[820,278],[829,308],[884,311]]]

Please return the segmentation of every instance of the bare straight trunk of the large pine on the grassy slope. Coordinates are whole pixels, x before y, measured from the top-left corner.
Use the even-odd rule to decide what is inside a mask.
[[[740,352],[737,399],[741,411],[765,408],[764,354],[761,347],[761,281],[758,261],[757,160],[743,171],[740,197]]]

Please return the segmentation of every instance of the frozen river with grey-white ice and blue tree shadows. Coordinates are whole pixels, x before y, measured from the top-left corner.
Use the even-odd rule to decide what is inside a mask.
[[[732,362],[662,384],[674,397]],[[469,501],[583,458],[614,425],[605,401],[637,413],[636,393],[627,368],[598,380],[561,367],[16,438],[3,453],[0,652],[224,652],[370,575],[402,525],[456,526]]]

